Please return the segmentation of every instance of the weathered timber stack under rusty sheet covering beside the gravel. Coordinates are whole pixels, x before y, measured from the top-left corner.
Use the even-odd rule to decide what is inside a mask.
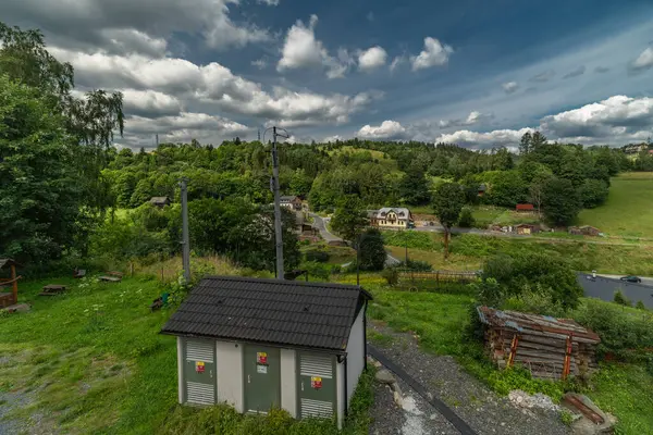
[[[599,336],[570,319],[478,307],[485,348],[505,369],[521,365],[537,378],[565,380],[596,369]]]

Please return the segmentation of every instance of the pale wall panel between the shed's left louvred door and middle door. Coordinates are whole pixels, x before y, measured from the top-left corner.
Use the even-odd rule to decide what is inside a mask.
[[[233,341],[215,341],[215,381],[218,402],[227,402],[243,412],[243,345]]]

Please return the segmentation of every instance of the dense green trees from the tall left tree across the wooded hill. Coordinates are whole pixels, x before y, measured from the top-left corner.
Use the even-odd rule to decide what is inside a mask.
[[[218,147],[192,140],[118,150],[113,134],[128,128],[120,92],[75,97],[73,67],[48,52],[38,30],[0,23],[0,257],[46,264],[177,252],[178,210],[146,203],[155,196],[177,202],[184,176],[196,249],[272,268],[269,144],[236,138]],[[454,182],[464,203],[541,202],[558,224],[601,203],[609,177],[633,169],[621,150],[551,144],[539,133],[525,135],[519,154],[355,138],[284,144],[280,162],[283,194],[307,198],[313,210],[334,210],[348,197],[361,208],[428,206],[440,185]],[[479,198],[481,185],[486,194]],[[134,211],[125,217],[120,209]],[[286,239],[293,266],[296,237]]]

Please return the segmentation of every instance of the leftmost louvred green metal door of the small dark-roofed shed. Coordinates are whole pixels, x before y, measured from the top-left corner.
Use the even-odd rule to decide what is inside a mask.
[[[184,340],[184,402],[215,405],[215,341]]]

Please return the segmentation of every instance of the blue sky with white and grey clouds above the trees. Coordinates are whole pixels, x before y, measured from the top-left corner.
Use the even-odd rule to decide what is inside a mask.
[[[653,136],[651,0],[2,0],[77,89],[124,92],[123,145],[334,138],[512,146]]]

